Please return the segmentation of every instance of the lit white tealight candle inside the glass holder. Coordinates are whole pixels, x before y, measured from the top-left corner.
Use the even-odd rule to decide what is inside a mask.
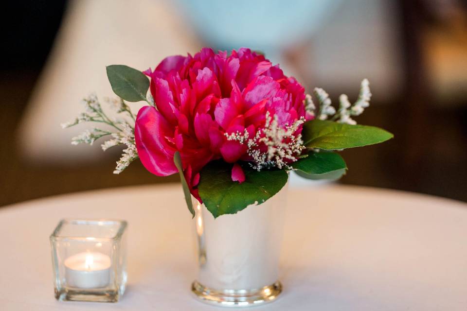
[[[110,257],[102,253],[78,253],[65,259],[67,285],[102,288],[110,282]]]

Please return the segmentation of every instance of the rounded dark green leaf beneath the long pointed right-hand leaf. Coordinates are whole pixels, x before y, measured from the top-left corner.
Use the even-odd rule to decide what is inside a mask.
[[[333,152],[311,152],[292,163],[298,175],[308,179],[338,179],[347,169],[344,159]]]

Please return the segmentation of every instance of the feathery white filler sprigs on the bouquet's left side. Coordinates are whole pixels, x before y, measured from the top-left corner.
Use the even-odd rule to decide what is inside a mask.
[[[110,99],[104,98],[104,101],[110,105],[118,114],[122,114],[124,117],[130,117],[135,121],[135,115],[131,112],[131,109],[121,98]],[[105,111],[102,109],[102,105],[99,103],[95,94],[90,94],[87,98],[83,99],[82,103],[85,106],[85,112],[80,113],[77,118],[72,121],[62,123],[62,128],[68,128],[83,122],[97,122],[104,123],[114,128],[116,131],[110,132],[102,130],[97,127],[93,127],[91,130],[86,130],[80,135],[72,138],[72,144],[77,145],[80,143],[86,143],[92,145],[94,141],[99,138],[111,136],[111,139],[104,141],[101,144],[102,150],[106,151],[108,148],[126,145],[126,149],[123,150],[121,158],[117,161],[117,166],[113,171],[114,174],[119,174],[125,170],[128,165],[138,158],[135,145],[135,128],[125,118],[110,118],[107,116]]]

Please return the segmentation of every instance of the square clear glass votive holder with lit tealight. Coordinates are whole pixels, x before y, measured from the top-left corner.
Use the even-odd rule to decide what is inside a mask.
[[[126,286],[125,229],[125,221],[60,221],[50,236],[55,298],[118,301]]]

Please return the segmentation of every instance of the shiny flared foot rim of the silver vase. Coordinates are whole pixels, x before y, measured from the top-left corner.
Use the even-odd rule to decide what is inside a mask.
[[[252,307],[275,301],[282,292],[282,284],[277,281],[272,285],[254,290],[213,290],[194,281],[191,291],[207,304],[222,307]]]

